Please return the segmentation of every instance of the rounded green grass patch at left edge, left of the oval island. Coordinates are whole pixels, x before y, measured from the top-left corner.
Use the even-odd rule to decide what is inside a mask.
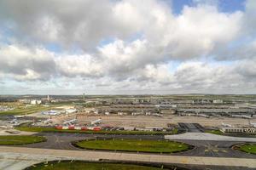
[[[15,145],[15,144],[33,144],[38,142],[44,142],[46,139],[41,136],[0,136],[0,144],[3,145]]]

